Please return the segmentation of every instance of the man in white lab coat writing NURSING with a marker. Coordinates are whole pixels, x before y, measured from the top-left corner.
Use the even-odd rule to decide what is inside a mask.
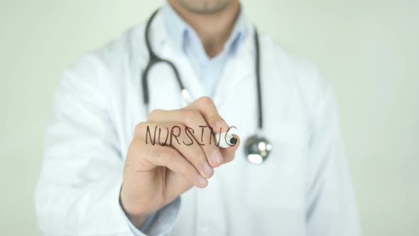
[[[158,11],[150,46],[178,70],[189,104],[168,63],[143,83],[145,24],[66,70],[36,188],[43,235],[359,235],[330,87],[260,36],[259,94],[255,30],[239,0],[169,0]],[[272,151],[254,164],[244,141],[260,107]],[[192,127],[204,145],[146,144],[155,126]],[[209,144],[201,126],[237,127],[236,144]]]

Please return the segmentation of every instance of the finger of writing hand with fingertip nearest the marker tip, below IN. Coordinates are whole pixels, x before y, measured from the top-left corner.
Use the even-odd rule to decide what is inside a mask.
[[[177,109],[177,110],[153,110],[148,115],[150,122],[180,122],[187,128],[187,135],[194,137],[196,143],[199,143],[204,151],[207,162],[212,167],[222,164],[222,154],[216,145],[216,139],[212,135],[210,126],[202,117],[201,112],[196,109]]]

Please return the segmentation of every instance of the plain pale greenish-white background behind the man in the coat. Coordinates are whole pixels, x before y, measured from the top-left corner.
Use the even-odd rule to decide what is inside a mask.
[[[33,191],[62,70],[162,1],[0,0],[0,235],[38,235]],[[337,94],[364,235],[419,235],[419,2],[244,1]]]

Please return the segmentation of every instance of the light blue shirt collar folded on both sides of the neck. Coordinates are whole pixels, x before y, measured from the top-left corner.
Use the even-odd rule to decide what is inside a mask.
[[[163,13],[168,37],[176,48],[185,52],[187,41],[189,41],[190,38],[199,41],[197,33],[195,33],[193,28],[176,13],[168,2],[165,2],[161,11]],[[240,9],[239,16],[237,16],[232,29],[232,34],[224,45],[224,50],[234,53],[241,43],[241,39],[246,36],[247,31],[247,18],[244,11]]]

